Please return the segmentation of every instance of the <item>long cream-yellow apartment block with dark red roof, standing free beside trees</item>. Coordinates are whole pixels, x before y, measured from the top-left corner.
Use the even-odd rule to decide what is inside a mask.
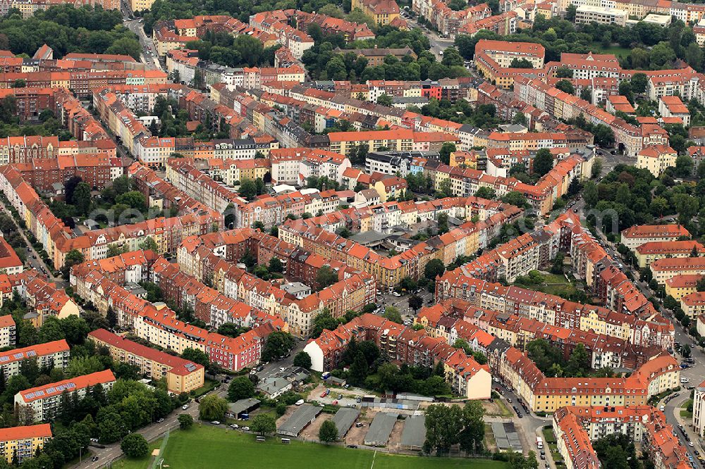
[[[94,330],[88,337],[97,346],[107,347],[114,361],[135,365],[142,375],[152,380],[166,377],[168,392],[183,394],[203,386],[203,365],[137,344],[104,329]]]

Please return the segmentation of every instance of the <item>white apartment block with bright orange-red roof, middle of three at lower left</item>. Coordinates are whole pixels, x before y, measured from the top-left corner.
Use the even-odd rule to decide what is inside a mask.
[[[56,413],[59,411],[61,394],[75,392],[78,399],[82,399],[90,391],[90,388],[98,384],[106,392],[112,389],[115,384],[113,372],[111,370],[98,371],[90,375],[77,376],[71,380],[25,389],[15,394],[15,405],[25,408],[23,410],[30,413],[35,422],[50,420],[56,417]]]

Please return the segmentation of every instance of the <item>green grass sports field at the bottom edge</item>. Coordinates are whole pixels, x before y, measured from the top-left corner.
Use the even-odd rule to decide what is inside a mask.
[[[302,468],[329,465],[336,469],[507,469],[498,461],[470,459],[421,458],[374,453],[363,449],[324,446],[292,441],[282,444],[269,437],[258,443],[252,434],[223,430],[209,425],[195,425],[191,430],[172,432],[164,451],[164,463],[173,469],[219,468]],[[374,458],[374,465],[373,465]]]

